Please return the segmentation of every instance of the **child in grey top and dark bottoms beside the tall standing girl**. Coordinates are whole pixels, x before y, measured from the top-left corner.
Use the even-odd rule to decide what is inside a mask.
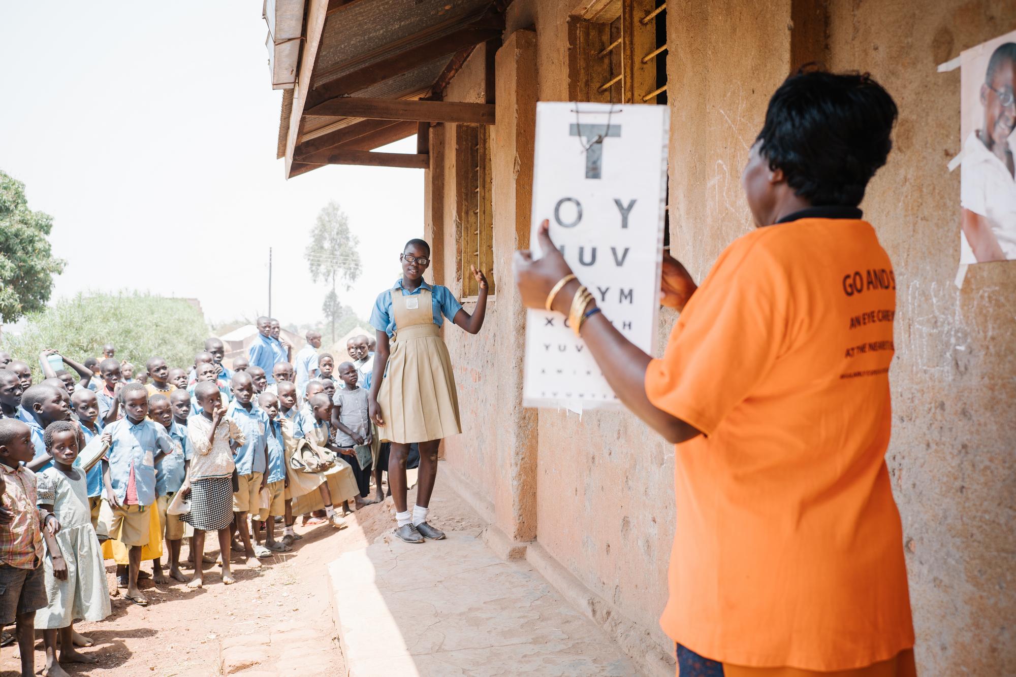
[[[371,500],[371,422],[367,415],[368,393],[358,386],[360,374],[353,362],[338,365],[338,378],[344,388],[332,396],[331,424],[335,427],[335,446],[353,467],[360,495],[357,509]]]

